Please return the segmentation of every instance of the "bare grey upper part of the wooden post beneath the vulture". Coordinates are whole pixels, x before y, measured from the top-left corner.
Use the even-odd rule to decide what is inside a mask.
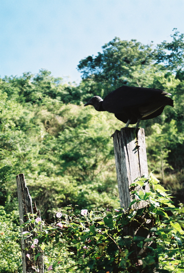
[[[131,203],[130,184],[136,178],[148,175],[144,129],[126,127],[116,130],[112,137],[120,206],[128,208]],[[145,191],[149,191],[148,185]]]

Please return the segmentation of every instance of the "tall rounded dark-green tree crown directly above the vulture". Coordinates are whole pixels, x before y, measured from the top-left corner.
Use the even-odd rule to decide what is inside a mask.
[[[99,52],[96,57],[88,56],[81,60],[78,70],[83,74],[83,79],[91,79],[108,88],[104,90],[104,95],[120,85],[128,84],[135,71],[142,72],[151,65],[154,56],[152,44],[143,45],[134,39],[122,41],[115,37],[102,49],[103,53]],[[135,84],[139,85],[136,79]]]

